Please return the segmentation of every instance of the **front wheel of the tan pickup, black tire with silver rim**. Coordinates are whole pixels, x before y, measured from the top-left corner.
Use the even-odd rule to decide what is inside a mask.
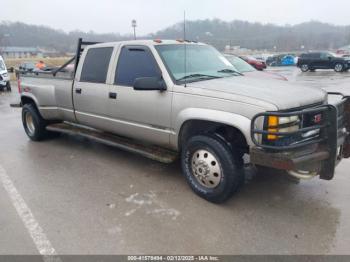
[[[181,166],[192,190],[212,203],[230,198],[244,178],[241,157],[214,136],[190,138],[182,148]]]

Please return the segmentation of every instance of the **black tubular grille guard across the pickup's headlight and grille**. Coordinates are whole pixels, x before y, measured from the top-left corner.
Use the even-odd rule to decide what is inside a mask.
[[[345,139],[347,132],[350,131],[350,99],[341,93],[330,92],[328,94],[341,96],[342,99],[335,105],[327,104],[296,111],[264,112],[255,115],[251,122],[251,138],[253,143],[259,148],[272,151],[293,150],[319,143],[332,145],[333,150],[337,150],[337,140],[341,137]],[[299,128],[291,132],[269,131],[266,125],[266,119],[270,116],[279,118],[298,116],[300,119]],[[310,120],[310,118],[316,116],[321,117],[319,123],[309,123],[305,126],[306,119]],[[262,129],[258,128],[259,120],[260,125],[262,123],[261,120],[263,120]],[[312,131],[315,131],[313,136],[303,136]],[[278,138],[276,141],[271,142],[267,139],[269,135],[274,135]],[[337,145],[335,149],[334,145]]]

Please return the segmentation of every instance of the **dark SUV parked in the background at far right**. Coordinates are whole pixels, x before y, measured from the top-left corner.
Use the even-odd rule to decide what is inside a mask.
[[[336,72],[343,72],[349,70],[350,59],[338,57],[331,52],[310,52],[300,56],[297,66],[303,72],[314,72],[316,69],[334,69]]]

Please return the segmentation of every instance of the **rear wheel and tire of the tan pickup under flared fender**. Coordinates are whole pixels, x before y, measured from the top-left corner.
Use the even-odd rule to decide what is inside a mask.
[[[22,123],[27,136],[33,141],[40,141],[47,137],[47,122],[42,118],[33,104],[25,104],[22,108]]]

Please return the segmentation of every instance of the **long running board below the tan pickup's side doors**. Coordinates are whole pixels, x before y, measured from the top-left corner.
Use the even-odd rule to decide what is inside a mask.
[[[49,131],[60,132],[69,135],[79,135],[86,137],[109,146],[117,147],[132,153],[137,153],[139,155],[162,163],[171,163],[174,162],[177,158],[177,153],[175,151],[167,150],[153,145],[141,144],[132,139],[116,136],[88,127],[86,128],[76,124],[64,122],[48,125],[46,129]]]

